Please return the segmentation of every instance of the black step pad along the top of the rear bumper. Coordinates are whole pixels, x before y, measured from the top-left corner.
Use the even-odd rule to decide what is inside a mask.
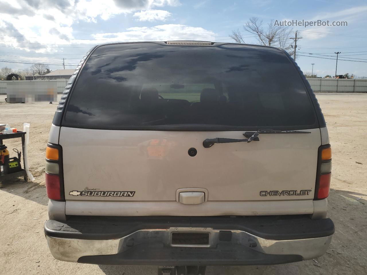
[[[48,220],[46,236],[55,238],[108,240],[127,236],[142,229],[170,227],[208,227],[241,230],[264,239],[292,240],[330,236],[330,219],[311,220],[308,215],[254,217],[95,217],[69,216],[67,221]]]

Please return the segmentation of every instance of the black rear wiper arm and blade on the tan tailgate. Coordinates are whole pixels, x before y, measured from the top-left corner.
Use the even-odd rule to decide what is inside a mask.
[[[216,137],[214,139],[206,139],[203,141],[204,148],[209,148],[214,145],[214,143],[233,143],[233,142],[247,142],[250,143],[252,140],[259,141],[260,134],[307,134],[311,132],[305,131],[294,131],[294,130],[273,130],[273,129],[259,129],[256,132],[245,132],[243,135],[248,137],[247,139],[228,139],[222,137]]]

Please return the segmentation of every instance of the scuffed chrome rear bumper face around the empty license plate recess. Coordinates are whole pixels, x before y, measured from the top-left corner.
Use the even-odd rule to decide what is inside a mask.
[[[208,244],[173,245],[173,232],[208,233]],[[199,251],[201,254],[207,253],[208,259],[210,259],[210,261],[205,262],[203,259],[199,259],[197,265],[215,265],[216,263],[220,265],[226,263],[232,265],[242,265],[261,264],[251,259],[256,258],[257,255],[259,257],[263,257],[265,256],[264,254],[268,256],[274,255],[274,257],[269,258],[269,263],[267,263],[266,260],[263,261],[264,264],[288,263],[317,258],[326,252],[328,246],[330,245],[332,235],[308,239],[272,240],[260,238],[241,230],[214,230],[212,228],[205,227],[170,227],[167,229],[137,230],[122,238],[116,239],[77,239],[59,238],[53,236],[46,237],[52,256],[62,261],[123,265],[164,265],[169,263],[176,263],[174,265],[182,265],[182,263],[177,263],[177,261],[180,262],[181,260],[179,253],[182,251],[182,261],[184,261],[183,264],[188,263],[189,265],[195,265],[195,258],[186,259],[185,257],[189,257],[187,253],[197,253]],[[155,245],[158,245],[160,248],[157,248]],[[149,247],[155,247],[151,250],[151,253],[147,251],[150,249]],[[177,249],[177,247],[181,248],[181,250]],[[139,259],[139,253],[137,253],[136,261],[134,261],[134,258],[130,258],[130,256],[128,260],[124,259],[124,255],[127,255],[129,251],[131,251],[130,254],[133,254],[133,252],[136,253],[139,249],[141,249],[146,255],[151,256],[151,260],[149,260],[149,257],[145,260]],[[171,249],[169,250],[170,253],[168,253],[168,255],[174,256],[172,256],[171,259],[166,259],[166,261],[160,261],[156,254],[157,251],[159,253],[164,249]],[[225,255],[227,255],[229,258],[235,257],[236,261],[226,261],[225,255],[222,259],[221,257],[215,259],[215,257],[217,257],[220,253],[215,253],[215,256],[210,256],[210,253],[217,251],[217,249],[222,249],[221,251],[224,251],[224,254],[227,253]],[[230,250],[238,250],[238,253],[231,256],[228,254],[228,252],[233,254],[233,251]],[[185,251],[187,251],[187,253]],[[247,257],[247,254],[245,253],[246,251],[250,253],[252,258]],[[109,256],[88,258],[88,256],[102,255]],[[282,255],[284,257],[281,257]],[[243,259],[241,259],[241,257],[243,257]]]

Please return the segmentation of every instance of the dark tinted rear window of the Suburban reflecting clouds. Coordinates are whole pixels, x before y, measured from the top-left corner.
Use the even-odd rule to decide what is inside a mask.
[[[302,78],[284,52],[156,43],[96,48],[62,125],[193,131],[318,126]]]

